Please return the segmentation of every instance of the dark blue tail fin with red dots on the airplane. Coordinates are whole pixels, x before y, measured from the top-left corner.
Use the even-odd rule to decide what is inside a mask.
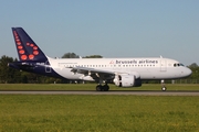
[[[12,28],[20,61],[46,62],[48,58],[22,28]]]

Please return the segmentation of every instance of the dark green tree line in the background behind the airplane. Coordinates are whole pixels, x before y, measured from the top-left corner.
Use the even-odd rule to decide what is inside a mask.
[[[62,58],[80,58],[81,56],[75,53],[65,53]],[[102,58],[101,55],[90,55],[82,58]],[[71,82],[66,79],[53,78],[36,75],[33,73],[21,72],[11,67],[8,67],[8,63],[18,62],[17,58],[9,56],[1,56],[0,58],[0,84],[64,84]],[[199,66],[196,63],[192,63],[188,66],[192,70],[192,75],[188,79],[199,79]]]

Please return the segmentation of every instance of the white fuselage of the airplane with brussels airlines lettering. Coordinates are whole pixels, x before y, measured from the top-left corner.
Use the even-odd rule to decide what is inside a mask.
[[[49,58],[51,68],[67,79],[81,79],[73,67],[92,68],[115,74],[133,74],[140,79],[175,79],[187,77],[191,70],[170,58]]]

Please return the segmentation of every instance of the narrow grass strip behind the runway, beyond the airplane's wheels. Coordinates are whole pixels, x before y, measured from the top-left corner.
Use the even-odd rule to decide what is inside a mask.
[[[199,90],[199,85],[167,84],[168,90]],[[95,90],[96,84],[0,84],[0,90]],[[109,85],[111,90],[160,90],[160,85],[144,84],[142,87],[119,88]]]

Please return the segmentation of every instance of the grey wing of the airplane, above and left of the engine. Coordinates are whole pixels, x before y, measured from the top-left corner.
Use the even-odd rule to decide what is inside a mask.
[[[71,68],[72,68],[71,72],[73,72],[74,74],[84,74],[85,76],[91,76],[94,80],[113,79],[115,76],[115,73],[108,70],[87,68],[87,67],[71,67]]]

